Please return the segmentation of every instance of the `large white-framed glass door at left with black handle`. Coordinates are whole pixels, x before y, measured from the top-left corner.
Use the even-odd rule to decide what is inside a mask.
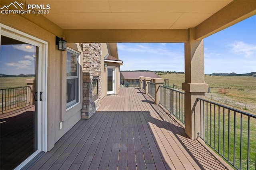
[[[1,34],[0,169],[14,169],[42,151],[42,44]]]

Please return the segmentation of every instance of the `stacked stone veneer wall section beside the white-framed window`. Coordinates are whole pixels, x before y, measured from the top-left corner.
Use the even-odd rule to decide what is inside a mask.
[[[100,107],[101,49],[100,43],[82,43],[83,49],[83,108],[82,119],[89,119]],[[98,76],[98,99],[92,101],[92,79]]]

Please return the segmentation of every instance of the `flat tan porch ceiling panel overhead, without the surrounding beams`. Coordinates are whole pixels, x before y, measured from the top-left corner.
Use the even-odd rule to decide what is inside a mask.
[[[194,28],[232,0],[48,1],[46,18],[62,29]]]

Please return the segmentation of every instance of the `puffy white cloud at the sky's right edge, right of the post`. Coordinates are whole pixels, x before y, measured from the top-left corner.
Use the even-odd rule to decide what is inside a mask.
[[[256,55],[256,45],[253,44],[236,41],[234,43],[228,43],[226,46],[230,47],[232,53],[235,55],[244,55],[244,57]]]

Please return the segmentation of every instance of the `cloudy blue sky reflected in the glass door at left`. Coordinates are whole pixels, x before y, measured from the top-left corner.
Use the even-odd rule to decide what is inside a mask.
[[[31,44],[1,45],[0,73],[35,74],[36,46]]]

